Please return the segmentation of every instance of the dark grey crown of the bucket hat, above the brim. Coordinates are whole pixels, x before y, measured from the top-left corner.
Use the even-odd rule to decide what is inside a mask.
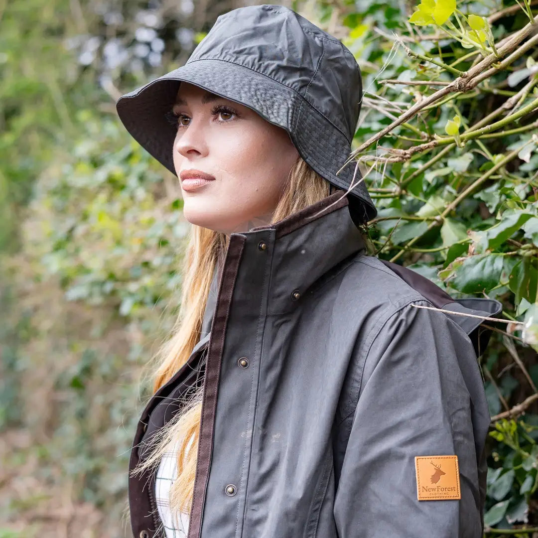
[[[238,8],[217,18],[187,63],[236,63],[296,91],[351,141],[360,69],[341,41],[285,6]]]

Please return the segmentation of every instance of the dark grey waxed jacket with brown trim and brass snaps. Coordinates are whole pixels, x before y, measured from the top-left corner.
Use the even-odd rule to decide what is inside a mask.
[[[367,256],[346,197],[316,215],[341,194],[231,234],[202,338],[140,417],[130,469],[205,372],[188,538],[482,536],[489,332],[412,305],[500,305]],[[417,499],[431,455],[457,456],[460,499]],[[136,538],[161,536],[153,478],[129,478]]]

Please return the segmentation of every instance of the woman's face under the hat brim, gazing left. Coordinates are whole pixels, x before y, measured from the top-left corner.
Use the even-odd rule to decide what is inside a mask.
[[[186,82],[172,121],[178,125],[174,168],[185,218],[224,233],[270,223],[299,157],[288,133],[250,108]],[[199,185],[200,176],[209,181]]]

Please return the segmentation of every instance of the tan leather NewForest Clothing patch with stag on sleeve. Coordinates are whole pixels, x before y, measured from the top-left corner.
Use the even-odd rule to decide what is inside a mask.
[[[457,456],[415,456],[419,501],[461,499]]]

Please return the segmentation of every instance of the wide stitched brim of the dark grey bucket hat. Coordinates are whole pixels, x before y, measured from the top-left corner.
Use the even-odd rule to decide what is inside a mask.
[[[173,143],[176,129],[166,119],[179,84],[189,82],[211,93],[245,105],[268,122],[289,133],[301,157],[318,174],[338,188],[350,191],[354,220],[366,222],[377,215],[355,164],[338,175],[351,151],[350,140],[298,92],[271,77],[237,63],[201,59],[162,75],[119,98],[116,109],[131,136],[175,175]]]

